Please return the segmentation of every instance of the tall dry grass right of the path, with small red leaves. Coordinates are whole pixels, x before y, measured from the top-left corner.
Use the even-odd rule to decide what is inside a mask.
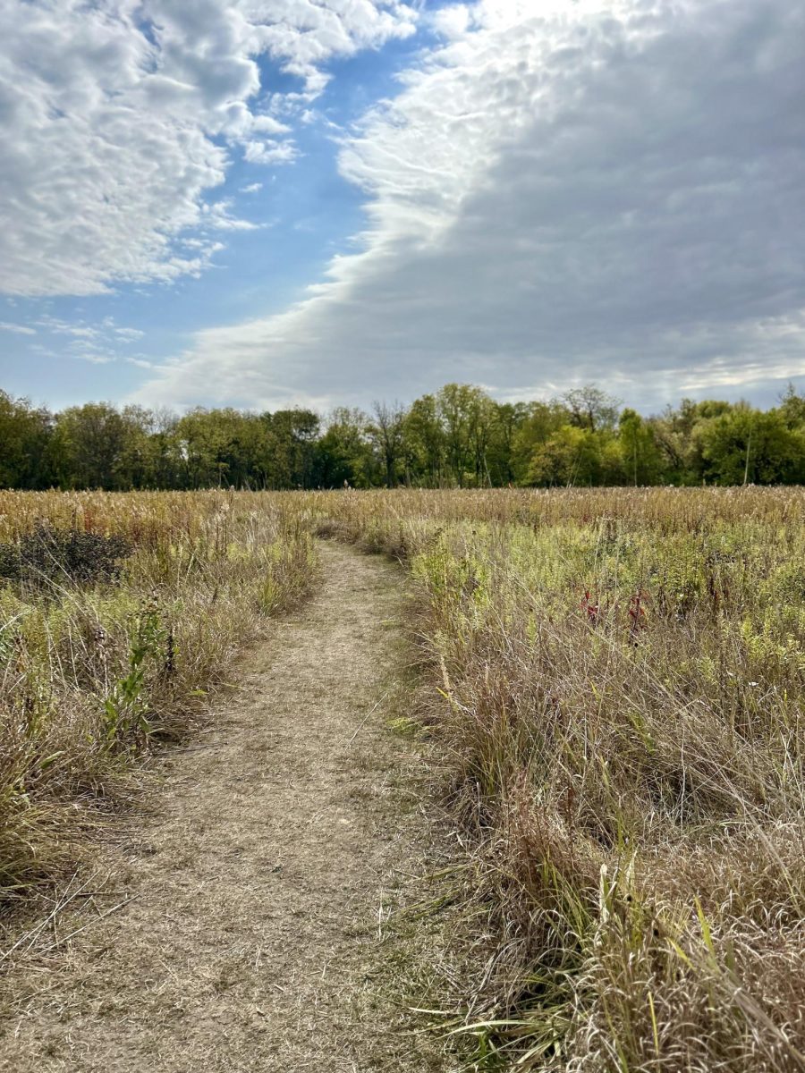
[[[471,854],[479,1069],[805,1068],[804,506],[310,498],[419,588],[421,718]]]

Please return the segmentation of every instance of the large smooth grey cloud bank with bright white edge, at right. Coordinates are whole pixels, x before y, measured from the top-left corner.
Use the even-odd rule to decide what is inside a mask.
[[[481,0],[439,25],[342,142],[360,252],[199,333],[142,399],[597,380],[652,403],[805,373],[802,5]]]

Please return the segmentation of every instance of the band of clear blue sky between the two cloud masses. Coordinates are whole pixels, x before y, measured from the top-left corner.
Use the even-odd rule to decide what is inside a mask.
[[[357,65],[358,60],[351,63]],[[327,114],[341,114],[335,86],[323,98]],[[328,98],[335,98],[332,105]],[[363,219],[360,192],[338,174],[332,134],[321,123],[302,127],[295,136],[298,164],[266,167],[232,161],[216,200],[231,200],[232,215],[255,227],[228,234],[224,248],[200,275],[169,284],[116,283],[109,294],[82,298],[6,298],[1,319],[35,327],[36,340],[11,334],[21,359],[10,363],[3,387],[27,394],[42,377],[46,397],[60,405],[99,394],[125,398],[143,380],[143,366],[76,358],[64,332],[48,330],[43,319],[74,326],[102,325],[112,318],[143,333],[126,347],[113,342],[121,357],[160,361],[181,350],[199,328],[278,312],[298,298],[334,253],[349,249]],[[259,189],[249,189],[252,186]],[[53,353],[40,353],[38,343]]]

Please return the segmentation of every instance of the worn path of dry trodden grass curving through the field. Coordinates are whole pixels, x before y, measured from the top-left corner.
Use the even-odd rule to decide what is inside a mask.
[[[383,997],[394,887],[427,829],[415,750],[384,722],[400,576],[336,544],[322,560],[313,599],[269,627],[215,727],[165,762],[116,865],[134,900],[18,996],[3,1071],[440,1068]]]

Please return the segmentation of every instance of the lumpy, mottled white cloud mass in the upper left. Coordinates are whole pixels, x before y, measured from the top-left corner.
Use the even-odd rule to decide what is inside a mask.
[[[255,57],[297,75],[292,95],[309,100],[328,58],[406,35],[414,18],[393,0],[8,0],[0,291],[89,295],[203,271],[219,244],[175,239],[205,222],[231,155],[294,156]]]

